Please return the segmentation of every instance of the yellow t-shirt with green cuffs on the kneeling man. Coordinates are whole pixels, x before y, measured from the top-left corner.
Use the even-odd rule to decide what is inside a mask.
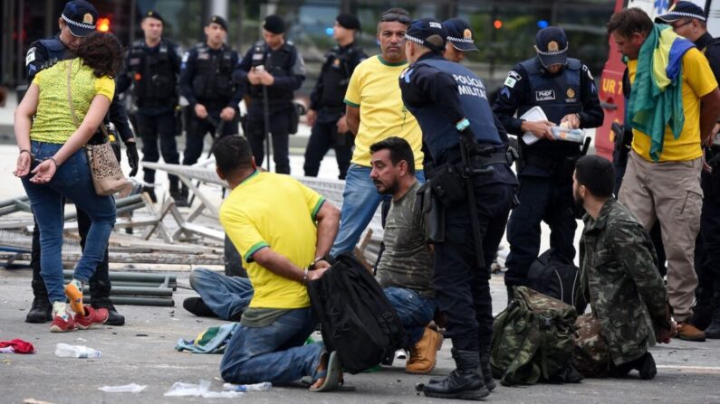
[[[315,216],[325,199],[289,175],[255,172],[235,187],[220,207],[220,223],[243,257],[253,284],[250,307],[308,307],[302,284],[275,275],[254,262],[253,254],[270,247],[300,268],[315,258]]]

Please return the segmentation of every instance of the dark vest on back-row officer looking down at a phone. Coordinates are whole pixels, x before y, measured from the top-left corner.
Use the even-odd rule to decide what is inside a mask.
[[[274,78],[287,77],[292,75],[293,62],[297,50],[293,42],[284,42],[280,49],[274,51],[264,41],[255,42],[253,45],[253,67],[263,66],[265,71],[272,74]],[[254,99],[263,98],[263,87],[260,85],[250,86],[250,97]],[[267,98],[274,103],[278,101],[292,102],[293,91],[287,89],[267,88]]]

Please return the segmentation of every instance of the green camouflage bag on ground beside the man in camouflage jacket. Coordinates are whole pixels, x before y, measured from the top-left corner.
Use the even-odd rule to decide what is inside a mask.
[[[513,293],[513,302],[494,319],[493,377],[504,386],[581,381],[571,366],[575,308],[527,287]]]

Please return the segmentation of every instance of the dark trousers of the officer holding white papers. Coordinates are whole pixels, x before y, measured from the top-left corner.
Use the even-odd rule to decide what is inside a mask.
[[[575,203],[572,198],[572,177],[560,170],[550,176],[520,174],[519,205],[507,222],[507,240],[510,254],[505,266],[505,285],[522,286],[528,268],[540,253],[540,223],[545,221],[551,230],[550,246],[562,257],[575,258],[573,241],[575,229]],[[561,178],[562,175],[562,178]]]

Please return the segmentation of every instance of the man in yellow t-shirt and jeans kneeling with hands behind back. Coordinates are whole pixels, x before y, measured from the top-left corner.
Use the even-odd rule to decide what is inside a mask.
[[[223,379],[283,384],[310,376],[311,390],[337,387],[335,352],[304,343],[316,324],[306,285],[330,267],[318,257],[331,248],[340,211],[290,176],[260,173],[244,137],[217,140],[213,155],[217,175],[232,190],[220,207],[220,223],[254,287],[220,362]]]

